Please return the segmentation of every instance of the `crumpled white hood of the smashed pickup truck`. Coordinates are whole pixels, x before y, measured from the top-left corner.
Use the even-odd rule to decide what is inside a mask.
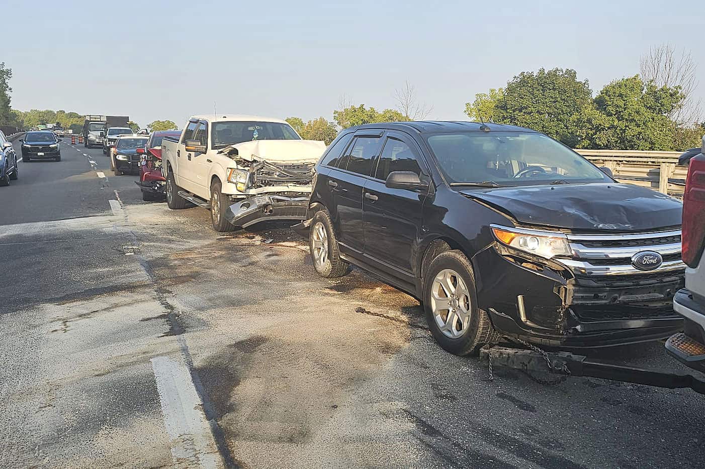
[[[234,148],[238,150],[238,158],[247,161],[286,161],[286,163],[317,163],[326,144],[318,140],[253,140],[221,149],[228,153]]]

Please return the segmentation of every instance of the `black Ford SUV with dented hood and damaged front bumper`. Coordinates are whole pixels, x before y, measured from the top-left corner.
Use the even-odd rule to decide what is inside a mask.
[[[499,334],[572,348],[682,327],[680,202],[533,130],[343,130],[316,166],[306,218],[320,275],[355,264],[415,296],[453,354]]]

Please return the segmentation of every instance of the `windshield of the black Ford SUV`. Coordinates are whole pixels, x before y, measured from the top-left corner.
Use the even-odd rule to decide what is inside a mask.
[[[458,132],[429,135],[426,139],[450,184],[611,182],[575,151],[538,133]]]

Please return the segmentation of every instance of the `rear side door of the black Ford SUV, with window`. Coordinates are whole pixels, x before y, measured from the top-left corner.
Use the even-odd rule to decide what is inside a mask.
[[[362,227],[362,189],[372,172],[372,163],[379,151],[381,130],[356,132],[337,168],[331,169],[327,185],[335,207],[333,225],[341,250],[353,256],[362,256],[364,230]]]

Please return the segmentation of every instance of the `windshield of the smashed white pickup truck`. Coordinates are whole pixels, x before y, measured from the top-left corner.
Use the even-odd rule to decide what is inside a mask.
[[[300,140],[293,128],[278,122],[216,122],[212,125],[213,148],[252,140]]]

